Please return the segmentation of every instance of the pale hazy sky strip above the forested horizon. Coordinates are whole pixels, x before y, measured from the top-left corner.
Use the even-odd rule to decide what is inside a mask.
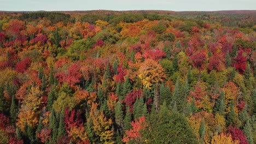
[[[256,0],[0,0],[0,10],[256,10]]]

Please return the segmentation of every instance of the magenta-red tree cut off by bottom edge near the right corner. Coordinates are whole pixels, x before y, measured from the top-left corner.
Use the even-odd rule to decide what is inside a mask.
[[[248,141],[246,141],[246,135],[243,135],[243,131],[232,126],[229,126],[229,133],[231,134],[232,140],[239,140],[240,144],[249,144]]]

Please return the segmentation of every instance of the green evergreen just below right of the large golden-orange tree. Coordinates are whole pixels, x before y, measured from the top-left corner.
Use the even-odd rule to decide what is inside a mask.
[[[160,105],[166,101],[167,105],[171,104],[171,91],[170,88],[165,87],[164,83],[160,85]]]

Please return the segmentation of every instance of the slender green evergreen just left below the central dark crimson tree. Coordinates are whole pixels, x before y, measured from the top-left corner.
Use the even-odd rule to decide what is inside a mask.
[[[119,129],[124,127],[124,114],[121,101],[118,101],[117,106],[115,106],[115,123],[117,123]]]

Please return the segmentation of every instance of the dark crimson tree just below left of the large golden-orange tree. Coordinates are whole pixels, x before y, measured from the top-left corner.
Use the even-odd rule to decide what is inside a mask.
[[[125,106],[130,107],[130,113],[132,113],[133,104],[135,103],[137,97],[141,97],[141,90],[135,91],[135,89],[133,89],[132,92],[126,95],[125,100],[122,100],[122,103],[125,103]]]

